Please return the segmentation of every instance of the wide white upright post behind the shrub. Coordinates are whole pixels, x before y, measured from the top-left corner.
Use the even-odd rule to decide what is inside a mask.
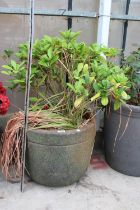
[[[97,43],[108,45],[112,0],[100,0]]]

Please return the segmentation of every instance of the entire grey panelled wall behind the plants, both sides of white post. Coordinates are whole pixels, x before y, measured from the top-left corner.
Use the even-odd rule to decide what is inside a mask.
[[[67,9],[68,0],[35,0],[36,9]],[[112,13],[124,14],[126,0],[112,0]],[[29,0],[1,0],[0,7],[29,7]],[[99,0],[73,0],[73,9],[78,11],[99,10]],[[131,0],[130,15],[139,15],[140,0]],[[24,15],[0,14],[0,54],[6,48],[16,49],[19,43],[28,40],[29,17]],[[82,31],[80,39],[87,43],[97,40],[97,20],[87,18],[73,18],[73,30]],[[58,35],[59,31],[67,29],[66,17],[35,17],[35,38],[44,34]],[[121,48],[123,21],[112,20],[110,24],[109,46]],[[130,21],[126,53],[139,46],[140,22]],[[3,63],[0,58],[0,65]]]

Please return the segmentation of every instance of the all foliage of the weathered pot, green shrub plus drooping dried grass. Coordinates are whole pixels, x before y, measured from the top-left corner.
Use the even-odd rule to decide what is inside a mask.
[[[29,129],[73,129],[86,125],[97,108],[114,101],[114,109],[130,99],[126,72],[112,63],[118,51],[98,44],[78,42],[79,32],[65,31],[60,37],[44,36],[33,45],[30,78]],[[25,89],[28,45],[16,52],[16,61],[4,65],[10,88]],[[126,71],[126,72],[125,72]],[[21,176],[21,142],[24,113],[8,122],[3,135],[2,169],[7,178],[14,163]]]

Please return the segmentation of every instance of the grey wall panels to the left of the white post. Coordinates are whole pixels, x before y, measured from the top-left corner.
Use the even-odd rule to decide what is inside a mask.
[[[97,11],[96,0],[74,0],[73,8],[82,11]],[[1,0],[0,7],[29,7],[29,0]],[[67,9],[67,0],[36,0],[36,9]],[[28,16],[0,15],[0,53],[8,48],[15,49],[17,45],[28,39]],[[35,38],[44,34],[58,35],[59,31],[67,29],[66,17],[35,17]],[[73,30],[82,31],[81,40],[95,42],[97,36],[97,21],[94,19],[74,18]],[[0,61],[1,63],[2,61]]]

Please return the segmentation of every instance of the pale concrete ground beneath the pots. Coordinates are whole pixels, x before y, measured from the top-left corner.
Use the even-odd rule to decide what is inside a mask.
[[[140,210],[140,178],[122,175],[95,155],[85,177],[63,188],[27,182],[6,183],[0,176],[0,210]]]

